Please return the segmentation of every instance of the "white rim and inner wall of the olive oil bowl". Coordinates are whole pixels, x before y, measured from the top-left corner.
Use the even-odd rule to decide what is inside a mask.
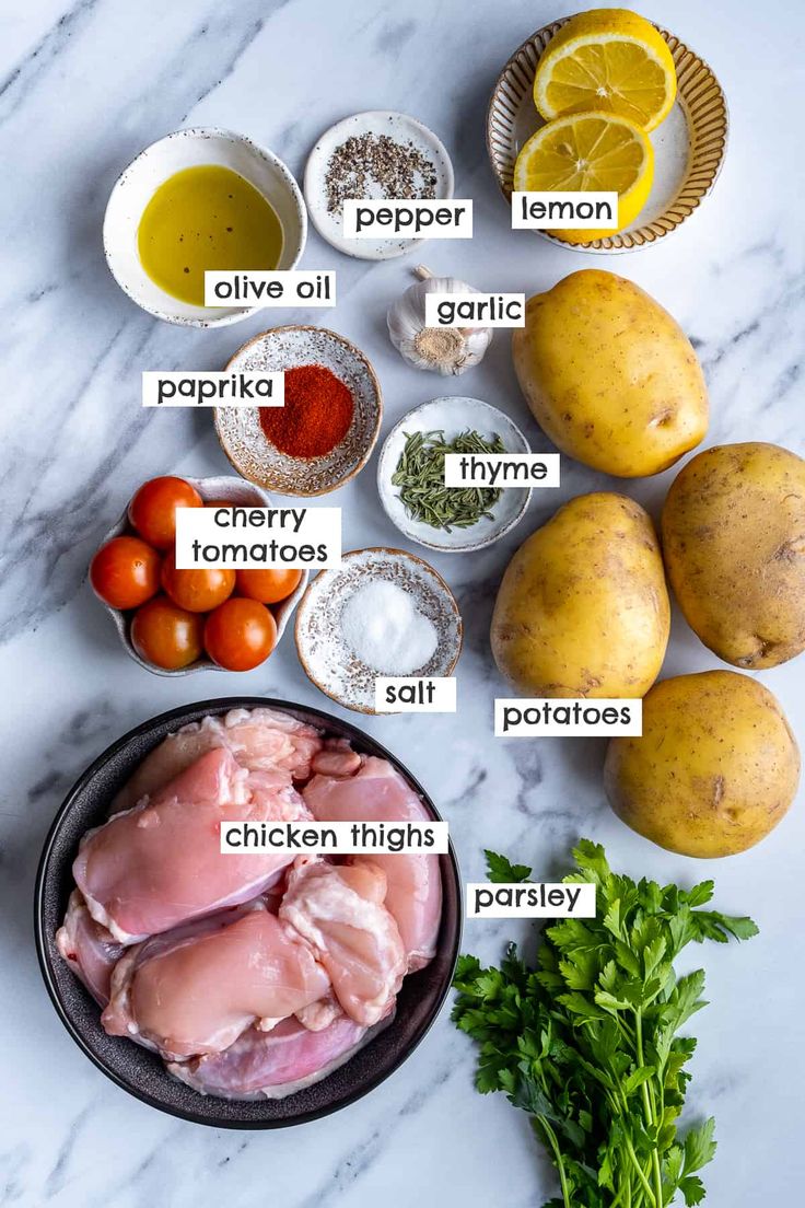
[[[285,184],[287,185],[299,215],[299,232],[297,237],[297,246],[293,255],[293,262],[291,265],[291,268],[296,268],[296,266],[302,260],[305,244],[308,242],[308,207],[305,204],[304,194],[299,188],[299,184],[293,173],[291,172],[291,169],[288,168],[288,165],[282,159],[280,159],[279,156],[274,155],[273,151],[269,151],[268,147],[264,147],[262,144],[256,143],[255,139],[250,139],[247,134],[239,134],[237,130],[229,130],[223,126],[183,126],[179,130],[171,130],[170,134],[164,134],[161,139],[154,139],[153,143],[150,143],[146,147],[142,147],[142,150],[139,151],[138,155],[135,155],[129,163],[127,163],[127,165],[119,173],[117,180],[112,186],[112,191],[109,194],[109,201],[106,202],[106,209],[104,210],[104,225],[103,225],[104,256],[106,259],[106,265],[109,266],[110,273],[112,274],[119,288],[123,290],[123,292],[127,295],[127,297],[129,297],[136,306],[139,306],[141,310],[145,310],[147,314],[153,315],[154,319],[162,319],[164,323],[171,323],[175,326],[180,327],[228,327],[233,323],[241,323],[250,315],[257,314],[257,312],[264,309],[264,307],[237,307],[233,308],[232,310],[228,310],[226,314],[221,314],[217,318],[209,318],[202,315],[199,315],[198,318],[193,318],[192,315],[169,314],[167,310],[162,310],[158,307],[148,306],[141,298],[136,297],[135,294],[132,292],[128,285],[119,279],[119,277],[112,268],[111,252],[110,252],[111,237],[109,232],[109,211],[112,204],[112,198],[122,187],[124,178],[128,176],[130,170],[146,155],[153,151],[154,147],[159,146],[163,143],[170,143],[173,140],[179,140],[179,139],[211,138],[211,137],[218,139],[228,139],[232,143],[245,144],[255,155],[259,156],[268,164],[270,164],[270,167],[275,168],[276,172],[282,178],[282,180],[285,181]]]

